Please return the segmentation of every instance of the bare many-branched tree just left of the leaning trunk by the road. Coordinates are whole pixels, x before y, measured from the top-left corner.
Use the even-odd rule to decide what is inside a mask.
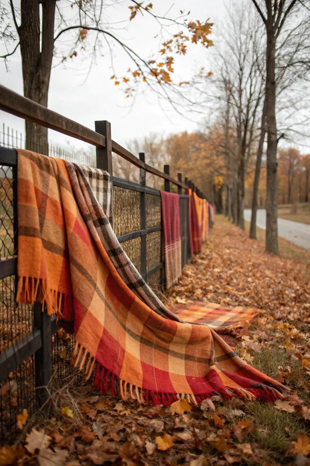
[[[258,118],[264,95],[264,81],[257,60],[261,37],[261,27],[251,7],[245,2],[233,2],[228,10],[227,21],[221,25],[219,46],[216,48],[219,66],[215,64],[213,83],[218,108],[226,113],[223,119],[226,157],[232,178],[237,181],[237,218],[235,216],[234,221],[242,229],[245,173],[257,141]],[[223,110],[220,111],[223,113]],[[232,138],[235,139],[233,144]]]

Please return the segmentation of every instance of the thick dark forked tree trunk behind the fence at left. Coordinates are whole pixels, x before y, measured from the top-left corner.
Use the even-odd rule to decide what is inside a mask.
[[[40,3],[42,39],[40,50]],[[20,54],[24,96],[47,107],[51,75],[56,0],[21,0]],[[47,128],[26,121],[26,149],[48,155]]]

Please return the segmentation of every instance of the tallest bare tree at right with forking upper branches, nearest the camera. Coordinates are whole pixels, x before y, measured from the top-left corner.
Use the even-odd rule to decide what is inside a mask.
[[[265,248],[266,251],[279,254],[277,238],[277,41],[281,31],[284,30],[284,25],[294,14],[309,14],[310,3],[309,0],[252,0],[252,2],[266,29],[267,193]],[[290,34],[290,30],[287,34]],[[304,66],[301,58],[297,58],[296,61],[300,66]]]

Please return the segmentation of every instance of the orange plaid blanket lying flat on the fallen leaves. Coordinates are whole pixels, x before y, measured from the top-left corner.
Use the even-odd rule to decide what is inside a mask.
[[[171,311],[186,322],[204,323],[216,332],[234,329],[258,315],[255,308],[230,308],[214,302],[201,301],[178,304]]]

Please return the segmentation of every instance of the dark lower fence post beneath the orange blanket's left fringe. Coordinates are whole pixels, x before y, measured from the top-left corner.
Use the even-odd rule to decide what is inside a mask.
[[[49,398],[46,386],[52,377],[52,329],[51,317],[46,309],[42,312],[40,302],[33,304],[33,329],[39,329],[41,333],[42,345],[34,354],[34,364],[36,399],[37,404],[42,406]]]

